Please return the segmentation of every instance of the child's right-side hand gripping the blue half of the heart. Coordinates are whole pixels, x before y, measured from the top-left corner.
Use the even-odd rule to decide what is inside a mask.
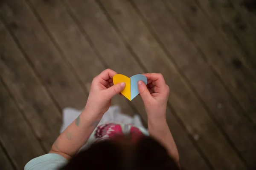
[[[165,118],[169,86],[161,74],[147,73],[143,75],[148,78],[148,84],[145,85],[143,81],[138,81],[138,89],[148,118],[157,120]]]

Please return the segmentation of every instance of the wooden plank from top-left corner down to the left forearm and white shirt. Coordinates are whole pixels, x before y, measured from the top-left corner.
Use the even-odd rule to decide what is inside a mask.
[[[26,2],[7,0],[1,13],[56,103],[61,108],[83,108],[87,94]]]

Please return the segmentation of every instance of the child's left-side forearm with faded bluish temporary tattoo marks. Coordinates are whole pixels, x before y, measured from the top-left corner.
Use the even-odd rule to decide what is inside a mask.
[[[97,124],[99,124],[101,118],[95,118],[92,115],[92,113],[84,110],[79,117],[58,136],[49,153],[57,153],[67,159],[74,156],[87,142],[93,130]]]

